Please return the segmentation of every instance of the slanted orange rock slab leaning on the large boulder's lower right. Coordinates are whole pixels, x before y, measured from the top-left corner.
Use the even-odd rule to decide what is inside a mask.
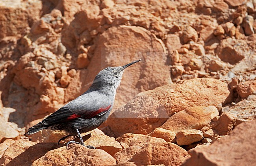
[[[219,112],[213,106],[195,106],[180,111],[171,116],[161,128],[171,130],[178,133],[181,130],[197,129],[207,126],[214,117],[218,116]]]

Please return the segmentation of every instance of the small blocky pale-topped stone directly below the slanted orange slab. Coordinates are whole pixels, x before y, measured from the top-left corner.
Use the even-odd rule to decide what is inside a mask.
[[[182,130],[176,134],[176,141],[179,146],[189,145],[204,138],[200,130]]]

